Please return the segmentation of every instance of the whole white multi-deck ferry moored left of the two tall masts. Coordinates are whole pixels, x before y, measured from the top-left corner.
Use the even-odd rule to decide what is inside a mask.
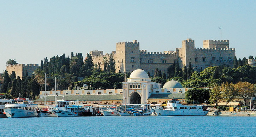
[[[5,105],[4,112],[8,118],[37,117],[37,104],[28,98],[11,99],[10,104]]]

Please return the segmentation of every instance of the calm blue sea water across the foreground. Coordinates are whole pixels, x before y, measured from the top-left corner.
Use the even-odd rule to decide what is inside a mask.
[[[256,136],[256,117],[36,117],[0,121],[0,136]]]

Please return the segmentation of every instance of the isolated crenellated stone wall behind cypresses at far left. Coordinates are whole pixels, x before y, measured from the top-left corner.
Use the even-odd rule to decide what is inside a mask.
[[[28,76],[31,77],[36,68],[38,68],[38,64],[16,64],[6,66],[9,75],[12,74],[12,71],[15,71],[16,78],[19,76],[20,79],[25,76],[26,70],[28,71]]]

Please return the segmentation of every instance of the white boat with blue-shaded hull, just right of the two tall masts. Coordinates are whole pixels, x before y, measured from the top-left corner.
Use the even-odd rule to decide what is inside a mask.
[[[84,108],[82,105],[70,105],[68,100],[57,100],[55,110],[52,112],[57,117],[78,117],[82,116]]]

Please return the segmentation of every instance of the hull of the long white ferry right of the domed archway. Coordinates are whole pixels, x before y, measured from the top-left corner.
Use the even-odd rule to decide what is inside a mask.
[[[209,111],[170,111],[164,109],[154,109],[158,116],[175,116],[175,115],[207,115]]]

